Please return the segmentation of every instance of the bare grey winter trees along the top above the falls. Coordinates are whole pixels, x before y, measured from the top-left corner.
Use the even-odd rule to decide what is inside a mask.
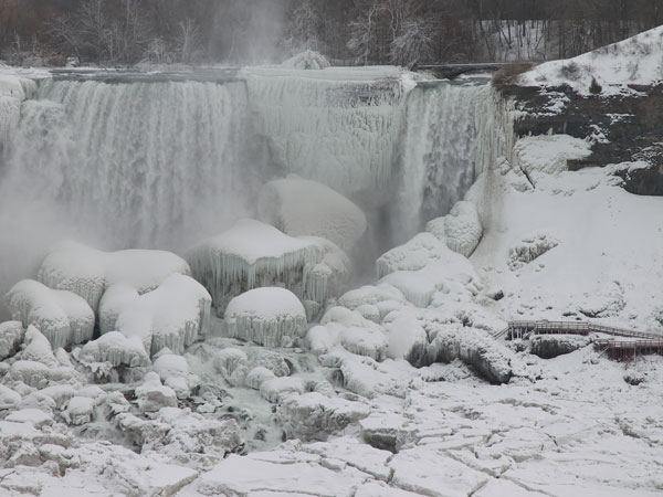
[[[569,57],[663,23],[661,0],[0,0],[15,64]]]

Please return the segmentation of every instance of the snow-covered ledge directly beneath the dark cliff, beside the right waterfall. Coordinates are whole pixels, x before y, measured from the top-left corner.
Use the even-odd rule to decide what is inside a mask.
[[[591,155],[591,144],[569,135],[527,136],[514,146],[514,166],[534,187],[544,188],[550,175],[567,171],[569,160]]]

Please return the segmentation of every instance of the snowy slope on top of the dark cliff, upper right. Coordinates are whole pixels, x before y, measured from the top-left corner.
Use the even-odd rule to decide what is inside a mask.
[[[591,94],[596,80],[603,95],[629,92],[628,85],[655,85],[663,80],[663,27],[573,59],[540,64],[520,75],[524,86],[567,84],[581,95]]]

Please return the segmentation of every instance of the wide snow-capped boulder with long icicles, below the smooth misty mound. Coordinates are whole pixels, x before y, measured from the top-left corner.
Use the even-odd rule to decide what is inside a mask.
[[[348,271],[347,257],[332,242],[293,237],[249,219],[189,251],[187,261],[220,316],[233,297],[265,286],[284,286],[302,302],[324,305],[338,286],[332,284]]]

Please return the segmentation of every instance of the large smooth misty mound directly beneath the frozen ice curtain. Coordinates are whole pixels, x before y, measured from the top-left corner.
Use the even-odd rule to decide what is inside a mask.
[[[290,175],[260,192],[260,219],[291,236],[319,236],[347,251],[367,228],[361,210],[330,188]]]

